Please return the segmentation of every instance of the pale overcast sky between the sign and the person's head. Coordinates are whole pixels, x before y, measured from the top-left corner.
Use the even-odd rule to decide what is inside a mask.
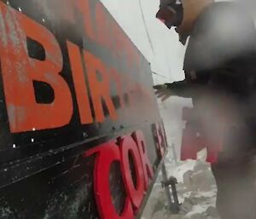
[[[155,19],[159,0],[101,1],[151,63],[152,71],[166,77],[154,77],[155,83],[183,79],[184,48],[178,42],[177,33],[168,30],[159,20]],[[143,6],[143,14],[140,9],[140,1]],[[143,15],[153,46],[148,40]]]

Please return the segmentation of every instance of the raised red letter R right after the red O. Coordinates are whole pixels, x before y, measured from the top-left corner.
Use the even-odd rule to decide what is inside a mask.
[[[152,169],[152,165],[150,164],[150,161],[148,159],[148,152],[146,149],[146,141],[144,139],[143,136],[143,132],[142,131],[136,131],[132,134],[133,139],[136,141],[137,143],[137,147],[140,153],[140,157],[142,160],[142,164],[143,164],[143,174],[144,174],[144,189],[145,191],[148,189],[148,177],[150,179],[153,179],[154,176],[154,172]]]

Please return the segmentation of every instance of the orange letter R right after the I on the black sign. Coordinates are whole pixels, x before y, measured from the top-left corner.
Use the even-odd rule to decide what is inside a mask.
[[[106,106],[108,107],[110,117],[114,120],[117,119],[117,113],[110,96],[110,81],[106,67],[102,61],[87,51],[84,51],[84,61],[90,84],[93,107],[96,113],[96,121],[103,122],[105,119],[102,100],[105,101]],[[101,81],[98,80],[97,73],[101,75]]]

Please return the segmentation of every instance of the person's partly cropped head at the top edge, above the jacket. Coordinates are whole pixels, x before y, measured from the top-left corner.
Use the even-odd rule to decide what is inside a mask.
[[[177,27],[176,32],[180,41],[185,43],[197,17],[213,2],[214,0],[160,0],[160,9],[156,17],[169,29],[172,26]]]

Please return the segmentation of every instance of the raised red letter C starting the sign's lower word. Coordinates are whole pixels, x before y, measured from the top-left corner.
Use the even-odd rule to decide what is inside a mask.
[[[85,154],[86,157],[96,153],[96,166],[94,169],[94,190],[96,204],[102,219],[132,219],[133,211],[131,200],[126,198],[125,209],[121,216],[114,209],[109,189],[110,166],[114,161],[120,162],[119,147],[113,141],[102,144],[100,147],[91,149]],[[123,176],[124,178],[124,176]]]

